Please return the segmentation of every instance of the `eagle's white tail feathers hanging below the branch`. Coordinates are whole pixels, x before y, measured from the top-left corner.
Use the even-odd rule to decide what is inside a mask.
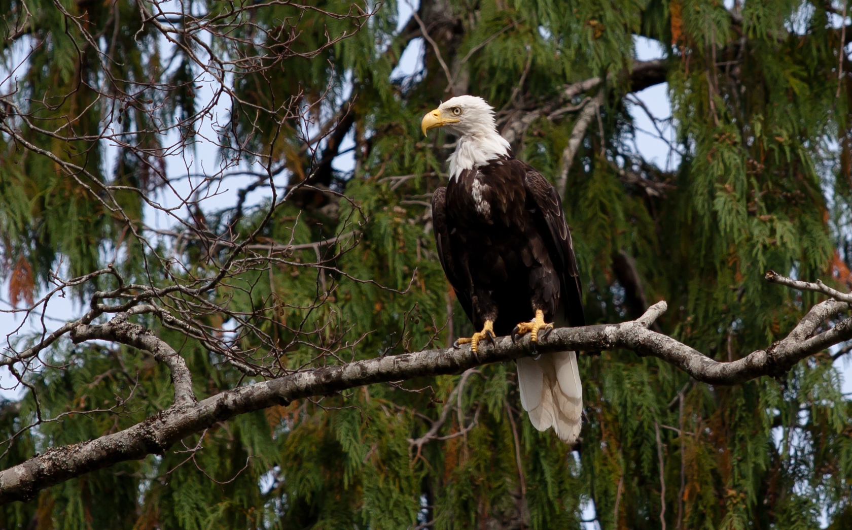
[[[560,440],[573,444],[580,434],[583,386],[574,352],[519,358],[521,405],[539,431],[552,427]]]

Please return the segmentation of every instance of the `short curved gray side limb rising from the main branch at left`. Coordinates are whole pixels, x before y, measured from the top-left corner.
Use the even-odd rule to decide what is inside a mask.
[[[118,313],[107,323],[80,324],[72,329],[71,340],[74,344],[78,344],[100,339],[119,342],[150,352],[153,358],[168,366],[171,372],[171,381],[175,386],[175,403],[172,408],[193,405],[196,402],[193,393],[193,376],[187,368],[187,363],[174,348],[169,346],[168,342],[154,335],[150,329],[127,322],[127,317],[127,313]]]

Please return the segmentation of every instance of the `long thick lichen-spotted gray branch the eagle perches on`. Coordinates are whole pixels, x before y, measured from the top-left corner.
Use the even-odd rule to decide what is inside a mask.
[[[827,292],[824,285],[798,282],[767,274],[771,282],[793,288]],[[838,297],[848,294],[837,292]],[[852,318],[842,318],[834,327],[820,331],[826,321],[849,310],[849,303],[830,299],[816,304],[790,335],[765,350],[751,352],[745,358],[721,363],[692,347],[648,327],[666,310],[664,301],[648,308],[635,321],[601,324],[582,328],[556,329],[538,344],[528,337],[516,344],[501,337],[485,343],[478,354],[469,347],[444,348],[388,355],[339,366],[304,370],[194,402],[186,365],[174,350],[141,326],[127,323],[120,313],[101,325],[78,324],[72,331],[74,341],[105,339],[146,349],[169,365],[176,387],[176,402],[168,410],[144,422],[114,434],[101,436],[65,447],[51,448],[42,455],[0,472],[0,504],[27,500],[45,487],[64,480],[107,468],[115,463],[135,460],[149,454],[163,454],[170,446],[191,434],[250,411],[289,403],[294,399],[324,396],[342,390],[379,382],[400,381],[418,376],[458,374],[477,365],[498,363],[534,354],[565,350],[602,351],[626,349],[642,356],[653,356],[686,371],[696,381],[731,385],[760,376],[780,376],[803,358],[826,347],[852,339]]]

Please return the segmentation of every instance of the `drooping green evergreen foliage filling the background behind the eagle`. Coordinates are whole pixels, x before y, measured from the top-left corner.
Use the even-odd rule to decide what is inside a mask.
[[[183,9],[224,17],[224,4]],[[434,45],[423,42],[416,19],[397,30],[394,2],[256,4],[231,20],[227,39],[207,36],[217,54],[256,60],[224,95],[230,122],[218,141],[222,160],[269,163],[291,187],[311,179],[256,236],[304,247],[289,265],[229,280],[214,298],[229,300],[235,313],[202,319],[219,328],[242,312],[264,338],[243,333],[239,343],[256,348],[252,360],[271,365],[271,374],[446,345],[451,334],[472,331],[430,233],[429,194],[446,181],[453,139],[424,139],[419,130],[423,114],[452,91],[485,97],[504,125],[559,101],[567,84],[604,79],[604,104],[574,157],[564,201],[590,323],[638,317],[667,300],[672,310],[659,322],[666,334],[732,360],[786,336],[820,300],[764,282],[765,271],[852,285],[852,64],[838,55],[852,30],[840,29],[843,3],[747,0],[728,10],[694,0],[422,0],[417,17]],[[157,128],[191,137],[204,110],[189,56],[200,44],[167,42],[154,22],[168,16],[143,24],[140,14],[157,6],[0,0],[6,64],[34,44],[9,96],[30,119],[0,109],[29,143],[0,133],[0,248],[13,303],[32,303],[51,271],[85,274],[112,260],[128,281],[158,285],[213,270],[214,251],[192,238],[176,245],[184,268],[175,272],[163,265],[166,239],[150,235],[146,245],[130,236],[149,221],[142,195],[166,185],[157,170],[170,146]],[[358,9],[375,14],[362,26],[337,16]],[[83,26],[100,40],[87,42]],[[291,31],[297,54],[279,58],[264,39]],[[342,32],[351,36],[321,48]],[[665,50],[680,154],[671,172],[634,149],[625,72],[636,36]],[[423,70],[392,76],[417,43]],[[104,79],[124,80],[110,90],[126,90],[138,104],[111,106]],[[562,104],[579,105],[597,90]],[[337,130],[306,145],[298,120],[286,115],[288,101],[318,103],[310,114]],[[556,183],[577,115],[538,117],[515,152]],[[114,167],[109,141],[96,139],[107,124],[128,145]],[[339,172],[331,160],[347,132],[354,170]],[[78,176],[39,150],[81,168]],[[145,193],[116,189],[116,213],[87,190],[98,189],[95,180]],[[255,180],[263,179],[232,178],[227,187]],[[202,202],[193,215],[215,236],[239,241],[262,226],[267,207],[220,211]],[[189,231],[177,222],[174,230]],[[307,245],[334,236],[337,243]],[[321,256],[335,256],[333,269],[298,266]],[[98,288],[111,286],[103,280]],[[270,310],[269,300],[287,306]],[[135,318],[179,349],[199,397],[259,377],[153,317]],[[337,360],[320,356],[317,341]],[[269,358],[270,342],[288,345],[285,355]],[[41,359],[24,378],[24,399],[0,411],[3,437],[15,436],[3,446],[3,469],[141,422],[173,397],[168,370],[130,347],[59,341]],[[786,376],[734,387],[694,383],[633,352],[579,361],[588,421],[574,447],[530,426],[514,364],[487,365],[239,416],[164,455],[3,506],[0,527],[579,528],[589,504],[604,530],[852,527],[852,405],[829,352]],[[118,408],[103,411],[116,396]],[[444,414],[447,407],[455,408]],[[57,420],[19,433],[37,416]],[[439,438],[417,446],[440,418]]]

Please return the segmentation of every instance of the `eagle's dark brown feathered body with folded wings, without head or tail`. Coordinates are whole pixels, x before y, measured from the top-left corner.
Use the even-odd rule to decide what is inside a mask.
[[[435,191],[432,215],[441,265],[476,329],[493,320],[509,335],[536,309],[584,324],[561,201],[532,166],[504,156],[464,170]]]

